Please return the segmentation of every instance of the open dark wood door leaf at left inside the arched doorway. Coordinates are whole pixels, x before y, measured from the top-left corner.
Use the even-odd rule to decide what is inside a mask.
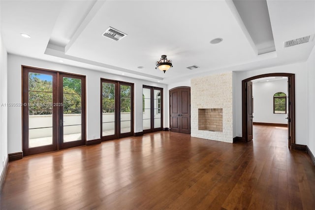
[[[253,100],[252,100],[252,81],[246,84],[247,94],[247,141],[252,140],[252,113],[253,113]]]

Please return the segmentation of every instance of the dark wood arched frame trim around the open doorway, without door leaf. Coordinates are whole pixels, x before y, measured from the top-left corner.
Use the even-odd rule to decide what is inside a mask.
[[[288,96],[291,100],[291,107],[289,108],[288,112],[290,119],[291,119],[291,130],[290,136],[291,139],[288,142],[289,148],[291,148],[291,144],[295,143],[295,74],[294,73],[266,73],[260,74],[256,76],[249,77],[247,79],[242,80],[242,138],[247,142],[247,115],[246,115],[246,83],[253,79],[269,77],[269,76],[285,76],[288,77],[288,85],[290,86],[288,89]],[[290,103],[287,101],[287,103]]]

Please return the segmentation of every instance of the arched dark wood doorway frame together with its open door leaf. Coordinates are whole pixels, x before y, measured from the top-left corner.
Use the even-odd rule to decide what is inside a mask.
[[[295,144],[295,74],[267,73],[242,80],[242,136],[248,142],[252,140],[252,80],[270,77],[285,76],[288,78],[288,147]]]

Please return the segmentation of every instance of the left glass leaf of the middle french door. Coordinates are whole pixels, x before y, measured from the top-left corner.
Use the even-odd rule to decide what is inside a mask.
[[[113,136],[117,132],[115,123],[116,113],[116,84],[102,82],[102,137]]]

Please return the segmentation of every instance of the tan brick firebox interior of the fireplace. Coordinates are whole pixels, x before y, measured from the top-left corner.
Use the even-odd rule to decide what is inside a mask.
[[[198,130],[222,132],[222,108],[198,108]]]

